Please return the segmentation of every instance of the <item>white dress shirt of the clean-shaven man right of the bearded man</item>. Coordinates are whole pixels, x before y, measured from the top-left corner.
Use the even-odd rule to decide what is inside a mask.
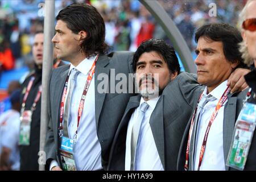
[[[206,87],[203,92],[203,97],[212,95],[215,100],[207,102],[204,108],[201,110],[199,123],[197,126],[197,139],[195,145],[195,156],[194,156],[194,170],[197,170],[199,166],[199,157],[201,146],[203,144],[205,132],[212,117],[213,111],[218,104],[222,94],[225,92],[228,81],[222,82],[212,92],[207,94],[208,88]],[[228,100],[226,100],[227,102]],[[210,131],[208,134],[207,144],[204,151],[203,160],[201,163],[200,171],[225,171],[225,159],[223,149],[223,119],[224,119],[224,107],[226,102],[222,105],[218,114],[214,119]]]

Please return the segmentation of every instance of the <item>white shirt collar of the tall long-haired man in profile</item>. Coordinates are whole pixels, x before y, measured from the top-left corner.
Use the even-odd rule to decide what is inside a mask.
[[[82,74],[84,75],[88,75],[88,72],[90,71],[90,68],[92,68],[92,64],[94,62],[94,60],[96,59],[96,56],[92,56],[89,59],[85,58],[84,60],[81,61],[81,63],[79,63],[79,65],[77,65],[77,67],[75,67],[73,64],[70,64],[70,68],[69,68],[69,72],[71,72],[71,69],[75,68],[78,71],[80,71]]]

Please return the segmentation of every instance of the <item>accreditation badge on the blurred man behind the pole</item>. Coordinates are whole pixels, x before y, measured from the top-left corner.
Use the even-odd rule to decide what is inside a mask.
[[[30,144],[31,110],[24,110],[20,117],[19,144],[28,146]]]

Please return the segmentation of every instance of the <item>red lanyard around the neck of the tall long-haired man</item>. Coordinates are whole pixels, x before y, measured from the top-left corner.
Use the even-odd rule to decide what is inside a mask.
[[[80,100],[79,110],[78,110],[78,114],[77,114],[77,129],[79,127],[79,123],[80,123],[80,119],[81,119],[81,115],[82,115],[82,110],[84,109],[85,97],[86,97],[86,94],[88,92],[90,82],[92,82],[92,78],[93,78],[93,75],[94,75],[94,72],[95,72],[96,61],[97,60],[98,60],[98,56],[94,60],[92,68],[90,68],[90,71],[88,73],[88,77],[87,77],[87,80],[86,80],[86,83],[85,83],[85,86],[84,86],[84,91],[82,92],[82,97],[81,97],[81,100]],[[69,75],[70,75],[70,73],[69,73]],[[60,104],[60,128],[59,128],[60,130],[63,130],[64,101],[65,101],[65,97],[66,97],[67,89],[68,89],[69,75],[67,76],[66,81],[65,81],[65,86],[64,86],[64,90],[63,90],[61,104]],[[77,130],[76,130],[76,135],[77,135]]]

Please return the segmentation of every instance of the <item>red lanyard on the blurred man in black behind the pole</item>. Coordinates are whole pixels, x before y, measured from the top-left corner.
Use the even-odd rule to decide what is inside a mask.
[[[26,93],[24,94],[23,101],[22,101],[22,111],[21,111],[21,113],[23,113],[23,111],[25,110],[25,105],[26,105],[28,93],[30,93],[30,90],[31,90],[31,88],[32,88],[32,85],[33,85],[34,80],[35,80],[35,77],[32,76],[32,77],[30,78],[30,82],[28,82],[27,89],[26,89]],[[39,86],[38,93],[36,94],[34,103],[32,104],[32,107],[31,107],[31,110],[32,110],[32,111],[35,110],[36,103],[39,101],[40,96],[41,96],[41,93],[42,93],[42,85]]]

